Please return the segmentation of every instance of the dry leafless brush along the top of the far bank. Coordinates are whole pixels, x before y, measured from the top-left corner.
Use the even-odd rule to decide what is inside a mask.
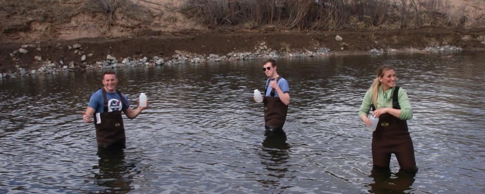
[[[450,0],[185,0],[181,12],[210,28],[276,24],[286,29],[464,27]]]

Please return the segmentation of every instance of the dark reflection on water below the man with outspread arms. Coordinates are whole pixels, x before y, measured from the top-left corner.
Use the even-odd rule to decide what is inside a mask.
[[[95,174],[95,183],[101,188],[106,188],[103,193],[128,193],[131,188],[132,176],[129,169],[135,164],[125,161],[125,151],[122,148],[105,149],[98,148],[98,165],[93,169],[99,172]]]

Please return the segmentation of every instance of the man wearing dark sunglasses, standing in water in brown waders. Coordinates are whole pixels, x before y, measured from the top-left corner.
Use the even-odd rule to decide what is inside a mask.
[[[290,85],[276,72],[274,59],[263,62],[263,71],[268,77],[264,90],[264,127],[266,136],[284,135],[283,125],[290,104]]]

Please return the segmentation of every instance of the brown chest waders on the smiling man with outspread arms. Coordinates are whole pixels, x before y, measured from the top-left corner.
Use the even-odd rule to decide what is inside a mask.
[[[108,112],[108,98],[106,97],[106,90],[103,88],[104,112],[99,114],[101,123],[97,124],[95,116],[94,123],[96,127],[96,141],[98,147],[115,148],[125,147],[125,128],[123,126],[123,118],[121,117],[121,110]],[[121,92],[116,90],[116,93],[121,99],[121,102],[126,106],[125,99]],[[123,107],[124,107],[123,106]]]

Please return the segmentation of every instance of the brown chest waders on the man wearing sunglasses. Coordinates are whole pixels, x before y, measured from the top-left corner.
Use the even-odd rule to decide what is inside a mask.
[[[279,80],[280,77],[276,78],[276,83]],[[269,81],[270,80],[268,80],[266,83],[266,89],[264,90],[264,94],[266,94]],[[263,104],[264,127],[266,128],[265,135],[283,135],[283,125],[285,125],[286,114],[288,113],[288,105],[285,105],[285,103],[283,103],[281,99],[279,99],[279,97],[275,97],[274,88],[271,90],[269,97],[263,97]]]

